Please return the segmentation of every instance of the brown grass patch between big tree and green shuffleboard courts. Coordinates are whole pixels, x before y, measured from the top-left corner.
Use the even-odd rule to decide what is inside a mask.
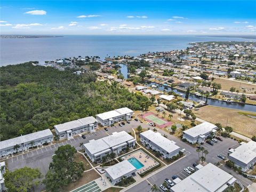
[[[81,179],[79,179],[75,183],[70,183],[67,187],[62,189],[62,191],[68,192],[68,191],[74,190],[98,178],[100,178],[100,175],[94,170],[85,172],[83,173],[83,177]]]

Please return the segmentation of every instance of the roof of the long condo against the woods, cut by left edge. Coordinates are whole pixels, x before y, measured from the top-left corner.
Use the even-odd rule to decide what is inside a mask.
[[[46,130],[43,130],[43,131],[38,131],[38,132],[35,132],[35,133],[26,134],[26,135],[22,135],[22,136],[17,137],[17,138],[1,141],[0,142],[0,150],[5,149],[5,148],[9,148],[9,147],[13,147],[15,145],[21,145],[21,143],[27,143],[27,142],[30,142],[30,141],[34,141],[36,139],[40,139],[40,138],[44,138],[44,137],[50,137],[50,136],[53,137],[53,134],[52,134],[50,129],[46,129]]]

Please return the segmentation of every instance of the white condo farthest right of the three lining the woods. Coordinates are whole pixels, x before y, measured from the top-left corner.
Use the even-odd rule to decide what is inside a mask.
[[[96,119],[102,126],[110,126],[119,121],[131,119],[133,110],[124,107],[96,115]]]

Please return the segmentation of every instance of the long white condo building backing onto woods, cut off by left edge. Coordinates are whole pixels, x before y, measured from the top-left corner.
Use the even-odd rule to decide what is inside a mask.
[[[11,155],[30,147],[42,146],[44,143],[53,141],[53,134],[50,129],[21,135],[20,137],[8,139],[0,142],[0,157]],[[19,146],[14,149],[14,146]]]

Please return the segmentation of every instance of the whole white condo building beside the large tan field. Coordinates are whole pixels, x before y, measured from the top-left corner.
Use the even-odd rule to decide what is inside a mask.
[[[187,139],[190,143],[201,143],[209,137],[211,134],[215,135],[217,132],[217,126],[209,123],[204,122],[199,125],[196,125],[186,131],[183,131],[183,139]]]

